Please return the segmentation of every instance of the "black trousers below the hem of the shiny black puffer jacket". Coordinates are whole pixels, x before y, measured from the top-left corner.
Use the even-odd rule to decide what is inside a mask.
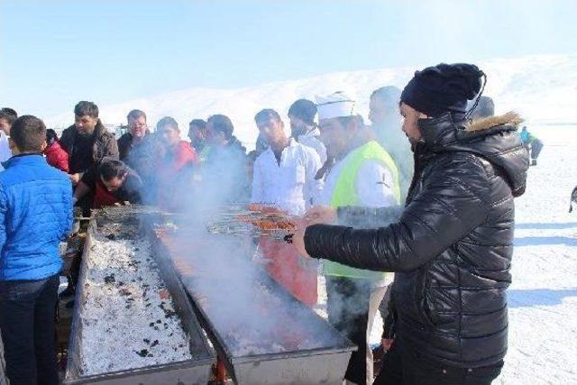
[[[396,339],[381,361],[374,385],[490,385],[503,362],[480,368],[455,368],[425,361]]]

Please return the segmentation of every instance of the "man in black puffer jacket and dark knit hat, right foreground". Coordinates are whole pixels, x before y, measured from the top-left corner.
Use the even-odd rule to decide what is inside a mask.
[[[293,237],[305,255],[396,271],[392,363],[378,384],[490,384],[503,366],[513,198],[525,192],[529,160],[516,114],[467,119],[481,78],[476,66],[439,64],[417,71],[403,90],[403,131],[415,143],[416,172],[395,223],[310,225]],[[316,207],[307,216],[331,223],[351,211]]]

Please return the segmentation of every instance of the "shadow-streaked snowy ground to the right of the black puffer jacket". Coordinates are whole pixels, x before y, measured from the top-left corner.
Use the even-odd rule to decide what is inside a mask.
[[[528,127],[545,148],[517,199],[500,384],[577,384],[577,126]]]

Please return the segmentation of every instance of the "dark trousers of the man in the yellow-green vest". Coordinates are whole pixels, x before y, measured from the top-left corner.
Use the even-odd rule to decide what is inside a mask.
[[[367,377],[367,325],[371,281],[326,277],[328,322],[359,349],[353,352],[344,378],[358,384]]]

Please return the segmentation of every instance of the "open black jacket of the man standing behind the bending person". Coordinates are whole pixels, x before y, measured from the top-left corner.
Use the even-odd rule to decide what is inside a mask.
[[[118,146],[114,134],[109,133],[100,120],[96,124],[94,135],[90,162],[86,165],[84,172],[91,171],[96,175],[96,168],[104,158],[118,159]],[[74,124],[64,130],[60,137],[60,146],[69,153],[69,160],[72,160],[75,151],[78,150],[76,147],[77,138],[78,132]]]

